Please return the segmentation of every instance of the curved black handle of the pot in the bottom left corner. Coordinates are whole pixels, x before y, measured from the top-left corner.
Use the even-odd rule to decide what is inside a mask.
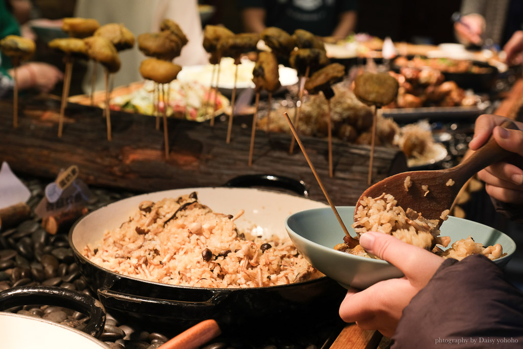
[[[89,322],[81,331],[95,338],[104,332],[104,306],[83,292],[51,286],[19,286],[0,292],[0,311],[38,304],[69,308],[87,314]]]

